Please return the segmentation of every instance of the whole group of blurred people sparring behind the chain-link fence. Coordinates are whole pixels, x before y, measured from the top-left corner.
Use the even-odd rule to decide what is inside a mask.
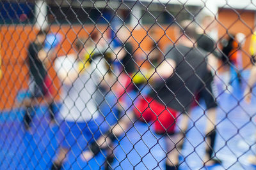
[[[191,25],[195,25],[195,27],[191,27]],[[174,127],[170,125],[169,121],[168,126],[171,129],[169,131],[169,127],[164,125],[164,120],[161,120],[161,113],[159,115],[156,113],[157,118],[155,119],[152,119],[153,116],[148,116],[150,117],[148,120],[152,120],[154,123],[160,121],[159,126],[163,126],[166,131],[163,134],[168,137],[169,141],[177,141],[174,145],[173,143],[170,144],[170,148],[168,148],[170,151],[166,154],[166,169],[178,169],[179,160],[177,160],[176,155],[179,152],[173,152],[173,148],[177,148],[177,150],[182,149],[191,107],[198,104],[199,99],[203,98],[207,105],[207,113],[209,114],[209,122],[207,122],[205,129],[205,139],[208,143],[205,146],[205,166],[221,164],[221,160],[213,156],[214,141],[217,135],[215,123],[218,103],[216,103],[216,98],[214,98],[216,87],[212,85],[212,82],[214,82],[216,75],[222,74],[224,82],[223,91],[229,93],[234,90],[232,87],[234,81],[242,85],[243,75],[241,73],[244,70],[242,53],[244,52],[243,45],[246,36],[240,32],[235,32],[234,34],[228,34],[227,37],[218,41],[218,38],[216,39],[216,36],[212,34],[212,32],[216,31],[217,27],[214,17],[211,16],[203,18],[200,26],[193,23],[193,21],[182,22],[182,24],[179,23],[175,26],[181,30],[180,34],[176,35],[177,41],[173,41],[175,43],[168,46],[159,46],[159,40],[163,35],[158,35],[154,27],[151,27],[147,31],[151,45],[150,50],[144,52],[141,56],[134,53],[136,46],[134,41],[132,41],[132,31],[125,25],[113,31],[115,34],[114,38],[97,29],[90,32],[87,37],[77,37],[72,42],[74,52],[58,57],[56,48],[63,39],[61,35],[49,30],[38,32],[35,41],[28,47],[30,83],[29,97],[22,101],[22,104],[26,107],[24,125],[29,132],[33,115],[35,115],[33,106],[38,104],[40,99],[46,100],[51,115],[49,124],[60,125],[64,134],[62,138],[65,138],[60,144],[60,152],[58,152],[58,156],[54,160],[52,169],[61,168],[69,148],[77,142],[85,143],[88,146],[88,152],[83,153],[84,160],[90,159],[101,148],[106,149],[108,152],[106,168],[109,168],[114,159],[111,141],[118,138],[120,133],[124,131],[116,130],[115,125],[119,124],[121,129],[127,129],[129,126],[127,124],[129,123],[127,123],[127,118],[123,121],[124,117],[128,117],[128,122],[130,119],[136,119],[134,115],[130,114],[130,112],[133,112],[134,106],[135,108],[140,106],[140,104],[134,104],[136,97],[141,96],[141,93],[144,91],[146,91],[145,96],[148,96],[147,89],[149,92],[156,92],[156,96],[161,96],[162,94],[160,93],[162,91],[157,91],[154,87],[162,85],[168,89],[170,82],[177,81],[180,83],[179,80],[173,80],[173,77],[184,76],[182,75],[182,69],[185,70],[189,66],[195,71],[190,76],[199,76],[200,80],[204,80],[203,84],[207,92],[205,92],[204,88],[202,89],[199,83],[198,87],[193,87],[193,83],[195,83],[193,81],[199,82],[199,79],[192,82],[182,80],[184,81],[184,86],[188,86],[192,93],[190,95],[193,101],[189,100],[188,107],[186,105],[183,106],[184,111],[180,111],[179,106],[177,106],[178,102],[173,104],[170,101],[171,104],[164,104],[165,111],[168,110],[168,106],[170,106],[170,109],[177,111],[170,111],[173,113],[173,115],[169,114],[172,115],[172,118],[166,117],[174,125],[179,113],[184,112],[182,120],[184,124],[182,124],[182,127],[175,127],[176,130],[173,130]],[[180,47],[179,45],[182,46]],[[184,46],[190,50],[186,50]],[[173,52],[176,47],[178,49],[177,52]],[[255,63],[255,50],[256,36],[253,34],[252,46],[250,48],[253,64]],[[198,60],[196,58],[190,59],[189,57],[193,57],[192,54],[188,54],[187,57],[187,53],[190,53],[190,51],[191,53],[193,52],[193,55],[199,56]],[[181,58],[176,59],[172,56],[179,55],[179,53],[183,56],[181,62],[179,62]],[[196,69],[201,66],[197,66],[195,63],[200,61],[201,55],[204,56],[205,69],[200,68],[196,72]],[[173,61],[175,62],[174,64],[172,63]],[[189,63],[188,66],[182,65],[184,61]],[[56,101],[54,101],[54,97],[51,94],[52,80],[47,74],[47,70],[51,65],[54,66],[61,82],[61,89],[59,91],[61,108],[58,111],[53,109]],[[184,74],[185,72],[186,70]],[[203,72],[205,73],[203,74]],[[256,81],[255,77],[255,66],[253,66],[251,76],[248,83],[246,83],[244,91],[244,99],[248,103],[250,103],[252,98],[252,87]],[[170,93],[172,92],[170,90]],[[181,102],[182,104],[187,104],[185,103],[187,100],[185,98],[190,96],[186,92],[182,95],[179,98],[179,94],[177,94],[177,98],[180,101],[184,101],[184,103]],[[163,96],[168,96],[168,94],[163,94]],[[149,99],[145,97],[143,104],[147,106],[147,104],[154,103],[154,106],[158,106],[157,104],[160,103],[159,107],[161,107],[165,101],[161,103],[159,100],[158,103],[154,103],[154,98]],[[177,108],[175,108],[176,106]],[[153,104],[149,107],[153,108]],[[145,110],[147,108],[139,109],[141,115],[137,115],[137,118],[143,119],[141,120],[142,122],[148,122],[148,117],[143,116],[143,111]],[[163,113],[165,114],[164,111]],[[102,128],[99,129],[99,127]],[[156,128],[156,132],[163,129],[163,127]],[[85,137],[81,139],[82,141],[79,141],[78,138],[81,134]],[[102,139],[102,136],[104,139]],[[108,147],[105,146],[106,143],[108,143]],[[256,164],[255,157],[251,157],[250,160],[252,164]]]

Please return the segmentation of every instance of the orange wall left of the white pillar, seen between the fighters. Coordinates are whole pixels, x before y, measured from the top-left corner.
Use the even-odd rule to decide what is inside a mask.
[[[94,29],[94,25],[53,25],[52,32],[58,32],[63,36],[63,42],[58,48],[58,55],[72,53],[72,44],[77,37],[88,37],[88,32]],[[97,28],[109,34],[109,29],[106,30],[106,25],[97,25]],[[136,55],[141,55],[143,52],[150,50],[150,38],[147,38],[145,28],[134,29],[132,31],[132,45],[136,50]],[[175,39],[173,27],[168,27],[166,31],[160,28],[154,28],[157,32],[159,46],[170,45]],[[0,110],[14,108],[15,97],[21,89],[28,88],[28,66],[26,65],[26,56],[29,42],[35,39],[36,30],[27,25],[3,25],[0,30],[1,56],[3,60],[2,70],[3,78],[0,80]],[[139,46],[140,44],[140,46]],[[145,54],[144,54],[145,55]],[[54,96],[58,99],[58,91],[60,90],[60,82],[56,77],[56,73],[52,67],[49,69],[49,74],[54,80]]]

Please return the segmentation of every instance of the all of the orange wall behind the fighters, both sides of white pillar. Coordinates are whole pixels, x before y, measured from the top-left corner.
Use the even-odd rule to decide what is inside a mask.
[[[227,36],[227,30],[230,33],[243,32],[247,38],[244,45],[243,61],[244,66],[249,66],[250,58],[248,57],[248,49],[250,46],[250,38],[252,35],[251,28],[254,25],[254,12],[253,11],[238,11],[239,15],[232,10],[221,9],[219,10],[219,36],[220,38]],[[241,22],[241,20],[243,22]],[[166,26],[163,26],[166,29]],[[58,48],[58,55],[72,53],[72,44],[77,37],[88,37],[88,32],[95,29],[94,25],[52,25],[52,32],[58,32],[63,36],[63,42]],[[97,29],[104,32],[105,35],[109,34],[107,25],[97,25]],[[132,30],[132,45],[136,56],[147,56],[150,50],[150,38],[147,37],[148,27],[140,27]],[[163,31],[160,27],[154,27],[157,34],[155,40],[159,40],[161,49],[167,45],[171,45],[175,40],[175,27],[168,27]],[[14,106],[15,97],[17,92],[21,89],[28,88],[28,66],[26,66],[26,48],[30,41],[35,39],[36,30],[30,25],[3,25],[0,29],[0,43],[1,43],[1,56],[3,60],[2,70],[3,78],[0,80],[0,110],[10,109]],[[171,40],[172,39],[172,40]],[[60,82],[56,78],[56,73],[52,67],[49,74],[54,80],[54,96],[58,99],[58,90],[60,90]]]

